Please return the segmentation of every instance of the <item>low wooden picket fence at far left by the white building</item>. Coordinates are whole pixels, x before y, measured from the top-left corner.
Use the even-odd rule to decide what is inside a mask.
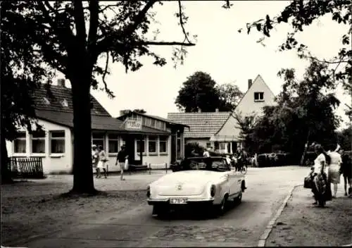
[[[8,158],[12,178],[44,178],[42,158]]]

